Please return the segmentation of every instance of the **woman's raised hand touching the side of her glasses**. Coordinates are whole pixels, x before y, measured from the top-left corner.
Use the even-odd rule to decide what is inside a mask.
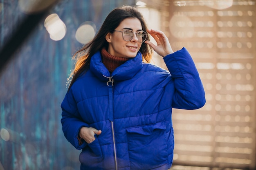
[[[145,43],[151,46],[157,54],[165,57],[166,55],[173,53],[169,40],[162,31],[153,29],[148,29],[147,31],[155,39],[157,45],[150,41],[145,41]]]

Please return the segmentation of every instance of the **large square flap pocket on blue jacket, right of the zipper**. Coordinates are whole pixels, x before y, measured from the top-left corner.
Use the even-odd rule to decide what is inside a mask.
[[[150,170],[168,163],[165,121],[126,131],[131,170]]]

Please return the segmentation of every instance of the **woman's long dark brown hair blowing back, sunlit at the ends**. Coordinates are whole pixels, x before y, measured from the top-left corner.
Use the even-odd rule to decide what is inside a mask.
[[[89,69],[92,55],[97,51],[100,51],[103,47],[108,49],[108,42],[105,38],[106,35],[108,33],[113,33],[117,26],[119,26],[119,24],[126,18],[138,18],[141,22],[142,30],[147,31],[148,28],[146,22],[141,13],[135,7],[123,6],[111,11],[93,40],[88,44],[85,44],[82,49],[74,54],[73,58],[76,60],[76,64],[68,79],[72,79],[69,89],[77,77]],[[149,40],[148,36],[146,40]],[[150,62],[153,53],[151,47],[146,43],[142,43],[139,51],[142,54],[143,61]]]

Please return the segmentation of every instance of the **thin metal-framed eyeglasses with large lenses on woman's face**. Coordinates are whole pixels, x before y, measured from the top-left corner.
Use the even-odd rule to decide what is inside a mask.
[[[117,30],[114,30],[117,31]],[[130,41],[132,40],[133,36],[134,36],[134,32],[132,30],[126,29],[124,31],[118,31],[123,33],[123,38],[125,41]],[[139,42],[145,42],[146,38],[147,38],[147,33],[144,31],[138,31],[136,34],[136,37],[138,38]]]

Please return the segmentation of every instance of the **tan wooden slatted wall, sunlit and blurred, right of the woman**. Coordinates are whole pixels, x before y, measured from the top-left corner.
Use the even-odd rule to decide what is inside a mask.
[[[172,168],[254,170],[256,3],[214,9],[208,2],[217,1],[169,1],[161,10],[163,30],[174,50],[190,51],[207,99],[199,110],[173,110]]]

